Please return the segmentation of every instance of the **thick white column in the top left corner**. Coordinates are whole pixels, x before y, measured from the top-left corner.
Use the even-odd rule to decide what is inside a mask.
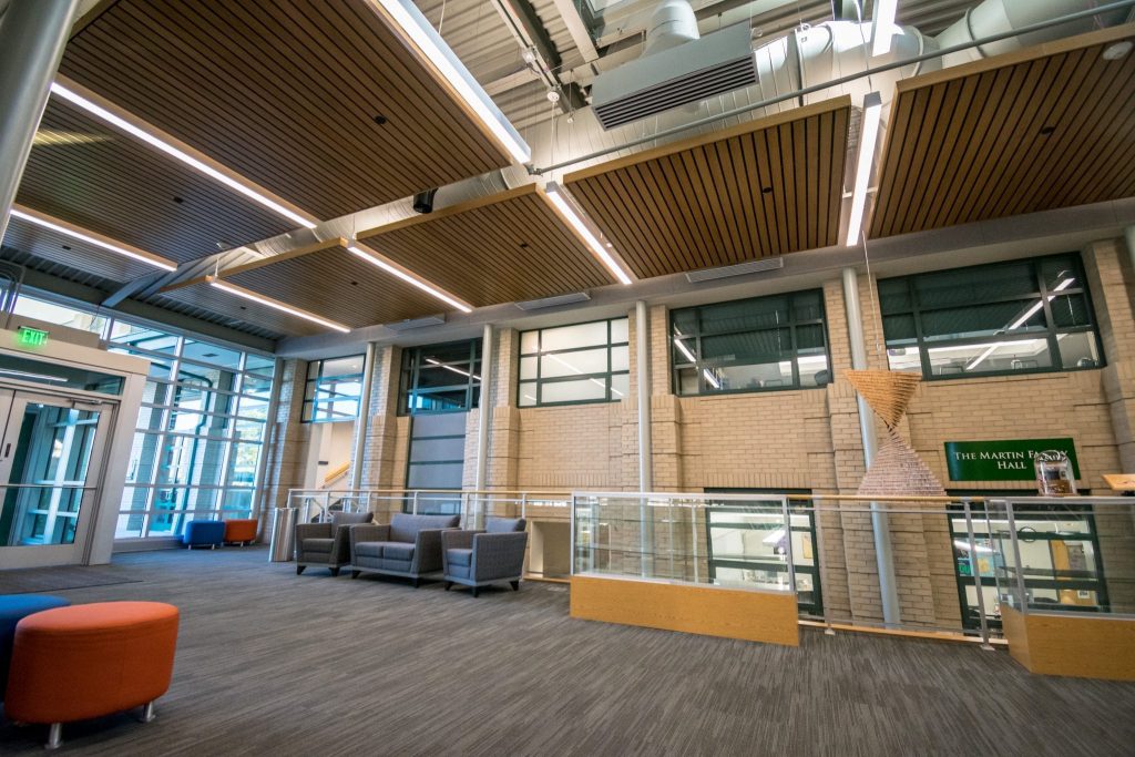
[[[0,23],[0,239],[77,7],[77,0],[12,0]]]

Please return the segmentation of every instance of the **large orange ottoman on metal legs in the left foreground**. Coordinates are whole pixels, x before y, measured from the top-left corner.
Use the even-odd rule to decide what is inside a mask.
[[[158,602],[103,602],[28,615],[16,626],[5,697],[10,721],[61,724],[145,705],[166,693],[174,673],[177,607]]]

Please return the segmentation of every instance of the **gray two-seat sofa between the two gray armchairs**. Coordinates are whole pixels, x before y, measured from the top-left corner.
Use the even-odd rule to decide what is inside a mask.
[[[351,529],[351,578],[384,573],[413,579],[442,570],[442,533],[455,529],[459,515],[396,513],[389,525]]]

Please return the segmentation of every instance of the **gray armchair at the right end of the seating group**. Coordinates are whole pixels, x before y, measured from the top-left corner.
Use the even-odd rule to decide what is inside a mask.
[[[476,597],[481,587],[497,581],[520,590],[528,546],[523,518],[490,518],[485,531],[445,531],[442,546],[446,591],[461,583],[471,587]]]

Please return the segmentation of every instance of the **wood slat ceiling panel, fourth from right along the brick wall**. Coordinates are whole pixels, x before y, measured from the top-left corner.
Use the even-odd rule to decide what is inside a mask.
[[[236,274],[221,271],[221,278],[352,328],[448,310],[340,246],[301,256],[280,255],[280,260],[269,258],[260,266],[242,267]]]

